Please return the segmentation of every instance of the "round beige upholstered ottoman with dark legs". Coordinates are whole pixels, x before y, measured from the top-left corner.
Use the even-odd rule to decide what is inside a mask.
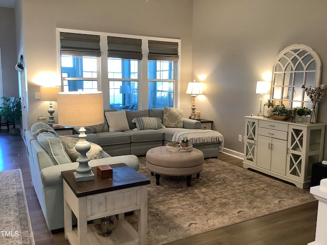
[[[186,185],[191,186],[192,175],[200,176],[203,169],[203,153],[193,148],[192,152],[169,152],[167,146],[152,148],[146,155],[146,166],[155,174],[159,185],[160,175],[186,176]]]

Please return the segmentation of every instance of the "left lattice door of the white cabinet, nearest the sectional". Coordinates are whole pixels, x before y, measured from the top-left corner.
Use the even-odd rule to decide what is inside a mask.
[[[245,119],[244,162],[256,165],[258,119]]]

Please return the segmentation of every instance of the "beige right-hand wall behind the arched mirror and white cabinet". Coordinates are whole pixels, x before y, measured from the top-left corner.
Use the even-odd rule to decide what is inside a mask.
[[[272,69],[283,48],[312,47],[321,57],[326,84],[327,1],[194,0],[193,9],[192,72],[207,75],[205,100],[197,99],[197,110],[215,121],[226,148],[243,152],[238,141],[243,116],[260,109],[256,81]],[[319,104],[318,121],[327,124],[327,96]],[[324,149],[327,159],[327,140]]]

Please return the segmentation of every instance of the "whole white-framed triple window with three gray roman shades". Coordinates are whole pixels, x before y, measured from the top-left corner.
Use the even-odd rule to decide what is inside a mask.
[[[105,109],[178,106],[180,40],[70,31],[58,29],[63,91],[101,90]]]

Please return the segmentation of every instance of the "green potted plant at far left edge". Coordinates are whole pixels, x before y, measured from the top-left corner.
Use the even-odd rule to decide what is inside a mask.
[[[21,101],[20,98],[1,97],[4,100],[0,106],[1,117],[12,122],[13,127],[10,129],[10,134],[17,134],[15,121],[21,118]]]

